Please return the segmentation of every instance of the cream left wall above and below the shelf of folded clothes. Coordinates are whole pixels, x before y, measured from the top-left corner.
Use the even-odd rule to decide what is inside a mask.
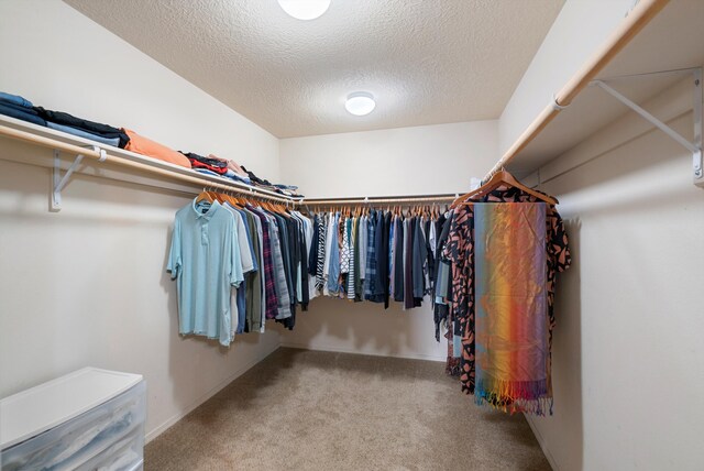
[[[0,2],[0,90],[278,178],[278,140],[58,0]],[[78,176],[47,211],[50,150],[0,139],[0,396],[94,365],[147,381],[147,432],[279,344],[178,337],[165,274],[183,193]]]

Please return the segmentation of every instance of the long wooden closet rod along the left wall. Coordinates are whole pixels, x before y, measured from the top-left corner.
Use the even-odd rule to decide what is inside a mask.
[[[0,124],[0,135],[6,135],[8,138],[16,139],[19,141],[42,145],[44,147],[68,152],[75,155],[82,155],[85,157],[94,158],[96,161],[102,158],[101,162],[109,162],[116,165],[139,169],[140,172],[146,172],[150,174],[165,176],[170,179],[177,179],[180,182],[189,183],[202,188],[207,187],[207,188],[218,189],[222,191],[233,191],[233,193],[246,195],[253,198],[264,198],[264,199],[279,201],[279,202],[296,202],[298,200],[298,198],[274,196],[274,194],[270,194],[271,191],[268,190],[261,190],[261,189],[249,187],[245,185],[238,186],[235,183],[224,184],[224,183],[218,183],[218,182],[213,182],[206,178],[200,178],[197,176],[184,175],[180,173],[168,171],[166,168],[158,168],[147,163],[135,162],[125,157],[113,155],[113,154],[110,154],[110,152],[101,153],[100,150],[82,147],[80,145],[70,144],[68,142],[63,142],[56,139],[45,138],[43,135],[37,135],[31,132],[22,131],[19,129],[7,127],[7,125]]]

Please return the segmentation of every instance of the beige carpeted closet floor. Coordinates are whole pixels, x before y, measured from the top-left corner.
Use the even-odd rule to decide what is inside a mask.
[[[282,348],[145,449],[150,470],[550,470],[443,364]]]

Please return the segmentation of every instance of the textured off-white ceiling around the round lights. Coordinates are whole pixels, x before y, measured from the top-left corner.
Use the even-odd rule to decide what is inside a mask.
[[[563,0],[65,0],[278,138],[495,119]],[[352,91],[374,112],[353,117]]]

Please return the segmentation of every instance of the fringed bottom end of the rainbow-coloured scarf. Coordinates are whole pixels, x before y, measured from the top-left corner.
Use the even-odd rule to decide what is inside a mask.
[[[552,415],[552,395],[547,380],[505,381],[477,379],[474,403],[505,413],[526,413],[536,416]]]

